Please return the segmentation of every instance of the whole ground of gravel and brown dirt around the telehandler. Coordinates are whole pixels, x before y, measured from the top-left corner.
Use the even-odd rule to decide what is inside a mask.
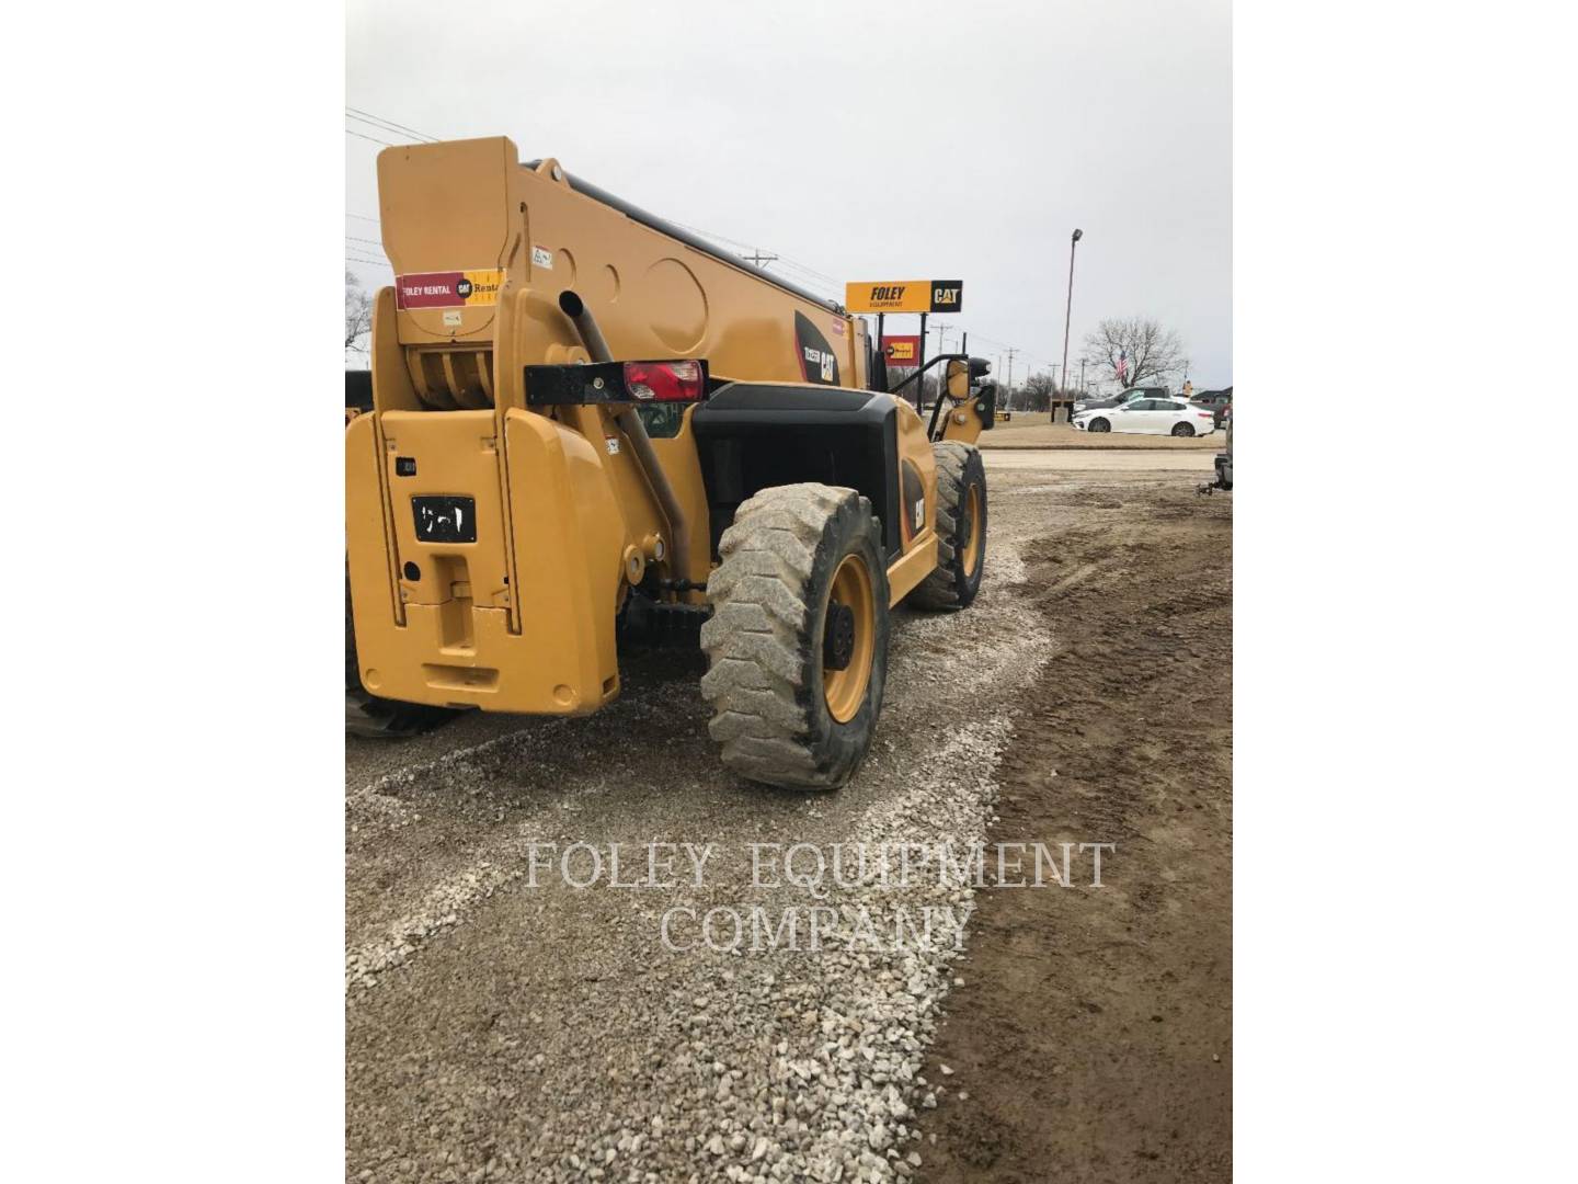
[[[986,459],[982,597],[898,613],[836,794],[723,774],[694,654],[590,720],[347,742],[347,1179],[1231,1176],[1231,496],[1209,453]],[[524,875],[653,840],[720,845],[707,884]],[[849,840],[1116,849],[975,890],[961,955],[658,946],[776,900],[739,845]]]

